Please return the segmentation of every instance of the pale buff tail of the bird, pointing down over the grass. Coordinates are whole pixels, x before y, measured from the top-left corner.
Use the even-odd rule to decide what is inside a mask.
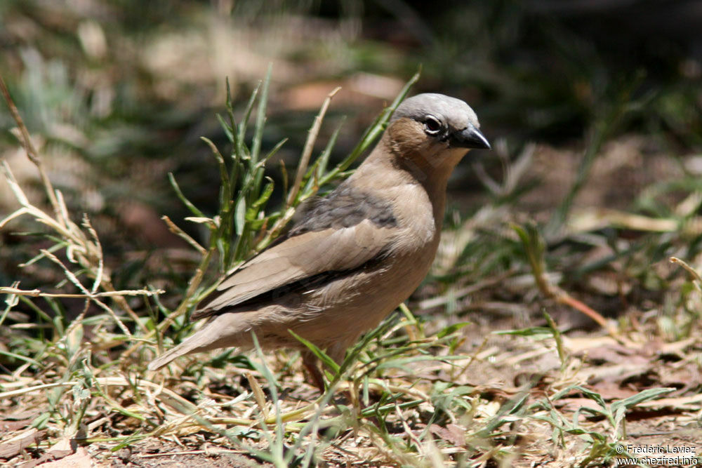
[[[241,321],[236,319],[238,317],[235,317],[235,314],[223,314],[216,317],[216,319],[207,323],[204,328],[198,330],[180,345],[151,361],[149,370],[158,370],[173,361],[173,359],[178,359],[180,356],[185,356],[185,354],[244,345],[246,335],[244,334],[242,337],[241,333],[237,333],[239,331],[237,330],[237,325]]]

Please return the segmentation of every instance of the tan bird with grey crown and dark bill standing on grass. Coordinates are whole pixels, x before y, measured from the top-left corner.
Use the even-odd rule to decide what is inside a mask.
[[[324,391],[305,338],[337,363],[418,288],[435,258],[451,171],[490,149],[463,100],[422,93],[395,109],[376,147],[327,196],[300,208],[289,232],[225,277],[193,312],[208,323],[154,359],[158,370],[194,352],[300,349]]]

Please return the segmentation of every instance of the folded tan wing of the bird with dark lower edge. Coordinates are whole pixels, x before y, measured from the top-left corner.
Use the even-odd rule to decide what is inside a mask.
[[[258,295],[326,272],[344,272],[376,258],[395,229],[363,220],[350,227],[303,232],[264,250],[222,281],[192,316],[223,312]]]

